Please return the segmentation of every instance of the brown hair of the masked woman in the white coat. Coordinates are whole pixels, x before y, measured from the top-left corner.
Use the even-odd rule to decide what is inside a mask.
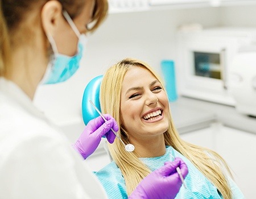
[[[7,65],[9,65],[11,57],[11,47],[15,45],[15,37],[19,38],[16,39],[16,43],[20,43],[20,38],[26,35],[29,35],[29,38],[33,38],[30,34],[25,35],[24,32],[21,31],[22,28],[20,24],[26,19],[26,15],[31,12],[31,10],[38,9],[40,11],[43,5],[48,1],[49,0],[0,1],[0,76],[5,76]],[[66,10],[73,19],[81,13],[85,0],[59,0],[59,2],[63,6],[63,10]],[[89,28],[89,32],[96,30],[104,21],[107,14],[108,0],[95,0],[92,26]],[[29,28],[32,30],[34,26],[27,27],[26,31],[28,31]],[[11,35],[11,37],[9,35]]]

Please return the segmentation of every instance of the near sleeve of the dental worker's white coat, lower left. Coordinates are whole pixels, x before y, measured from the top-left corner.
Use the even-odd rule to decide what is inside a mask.
[[[15,144],[0,165],[1,198],[106,198],[76,155],[63,140],[47,136]]]

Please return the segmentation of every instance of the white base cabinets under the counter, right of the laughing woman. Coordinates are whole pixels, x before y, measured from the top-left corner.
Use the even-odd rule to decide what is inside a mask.
[[[218,152],[232,169],[234,180],[245,197],[255,198],[256,134],[216,123],[180,136],[187,142]]]

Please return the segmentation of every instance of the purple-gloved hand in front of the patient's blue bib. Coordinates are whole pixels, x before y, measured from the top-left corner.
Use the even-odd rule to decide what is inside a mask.
[[[180,167],[181,175],[185,179],[188,174],[187,165],[179,157],[174,161],[164,163],[163,167],[156,169],[145,177],[137,188],[131,193],[129,199],[172,199],[179,192],[182,182],[176,168]]]

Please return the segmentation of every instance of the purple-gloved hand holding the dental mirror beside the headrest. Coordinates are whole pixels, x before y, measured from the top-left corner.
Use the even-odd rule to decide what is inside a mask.
[[[117,122],[109,114],[104,114],[104,117],[107,120],[106,122],[101,116],[88,122],[79,139],[73,144],[73,147],[82,155],[82,157],[84,157],[84,159],[96,150],[101,142],[102,136],[105,135],[109,143],[114,142],[115,134],[110,128],[113,128],[114,131],[118,131]]]

